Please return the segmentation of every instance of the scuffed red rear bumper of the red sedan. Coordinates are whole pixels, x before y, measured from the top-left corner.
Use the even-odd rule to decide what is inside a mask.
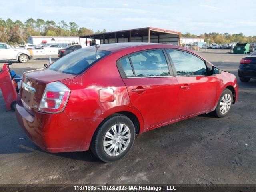
[[[22,105],[20,95],[16,103],[16,118],[26,135],[47,152],[86,151],[94,131],[102,119],[72,120],[65,112],[32,116]]]

